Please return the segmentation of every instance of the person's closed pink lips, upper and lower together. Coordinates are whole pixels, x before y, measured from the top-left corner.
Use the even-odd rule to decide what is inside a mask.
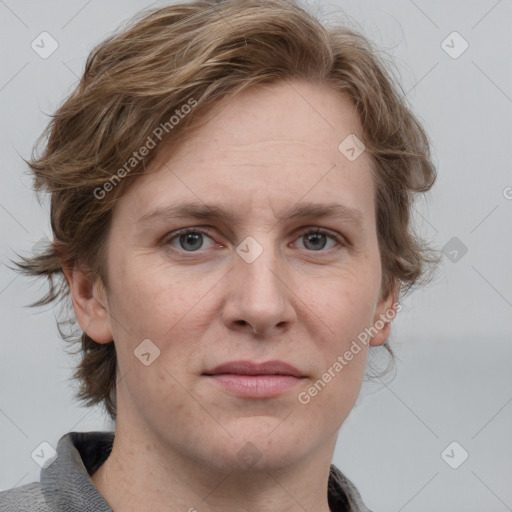
[[[245,398],[271,398],[294,388],[305,375],[283,361],[232,361],[204,375],[225,391]]]

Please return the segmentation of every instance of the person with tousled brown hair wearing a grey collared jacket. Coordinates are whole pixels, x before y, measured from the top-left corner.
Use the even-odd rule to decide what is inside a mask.
[[[337,433],[436,261],[428,138],[372,46],[290,1],[156,9],[46,133],[54,240],[19,266],[71,299],[79,396],[116,427],[63,436],[2,510],[368,510]]]

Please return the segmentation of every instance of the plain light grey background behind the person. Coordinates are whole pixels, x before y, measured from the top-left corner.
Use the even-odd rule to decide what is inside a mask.
[[[164,4],[0,0],[2,263],[50,232],[47,204],[35,200],[21,160],[46,114],[71,92],[93,45],[139,9]],[[348,18],[395,59],[439,170],[430,199],[418,203],[418,229],[439,249],[453,237],[467,247],[406,299],[391,337],[397,376],[364,385],[334,462],[376,512],[512,510],[512,2],[309,5],[324,20]],[[43,31],[59,44],[48,59],[31,48]],[[455,59],[442,47],[453,31],[469,44]],[[73,399],[76,359],[54,311],[24,307],[44,289],[2,265],[0,489],[39,480],[30,454],[42,441],[113,428]],[[453,441],[469,453],[458,469],[441,457]],[[449,453],[457,460],[461,448]]]

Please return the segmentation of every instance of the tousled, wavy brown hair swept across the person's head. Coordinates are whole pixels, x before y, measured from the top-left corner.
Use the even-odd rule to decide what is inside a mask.
[[[290,78],[346,94],[359,113],[374,163],[383,296],[395,282],[401,294],[426,283],[438,257],[415,235],[410,215],[414,194],[432,187],[436,171],[427,135],[378,51],[347,27],[326,29],[294,0],[197,0],[143,11],[99,44],[41,135],[44,151],[27,163],[36,192],[51,194],[53,241],[15,262],[49,280],[31,306],[66,299],[69,307],[63,268],[74,264],[108,288],[103,248],[112,209],[155,159],[153,147],[176,144],[193,121],[243,89]],[[81,341],[76,396],[103,403],[115,419],[114,342],[97,343],[80,329],[66,334],[65,323],[76,325],[58,322],[61,336]]]

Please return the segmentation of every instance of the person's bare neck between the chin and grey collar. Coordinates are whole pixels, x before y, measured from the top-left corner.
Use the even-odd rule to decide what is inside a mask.
[[[148,439],[147,431],[127,431],[122,425],[118,418],[112,452],[91,477],[116,512],[329,512],[327,482],[335,438],[307,460],[241,471],[191,461]]]

